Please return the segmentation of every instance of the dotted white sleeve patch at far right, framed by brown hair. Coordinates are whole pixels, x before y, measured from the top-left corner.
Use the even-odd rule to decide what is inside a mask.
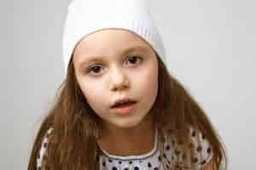
[[[196,169],[202,169],[211,161],[213,153],[212,146],[209,144],[207,137],[201,131],[190,128],[190,136],[192,139],[193,159]]]

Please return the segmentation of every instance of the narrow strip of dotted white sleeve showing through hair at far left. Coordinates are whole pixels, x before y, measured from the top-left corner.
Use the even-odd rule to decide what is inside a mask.
[[[52,132],[52,127],[50,127],[47,133],[44,135],[44,139],[42,140],[41,147],[38,151],[38,159],[37,159],[37,169],[41,170],[42,161],[46,156],[47,145],[49,142],[49,134]]]

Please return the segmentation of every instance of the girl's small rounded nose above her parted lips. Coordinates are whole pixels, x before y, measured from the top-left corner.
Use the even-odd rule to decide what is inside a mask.
[[[119,69],[117,67],[113,68],[111,71],[111,90],[123,90],[125,88],[129,88],[130,82],[128,77],[125,75],[125,71]]]

